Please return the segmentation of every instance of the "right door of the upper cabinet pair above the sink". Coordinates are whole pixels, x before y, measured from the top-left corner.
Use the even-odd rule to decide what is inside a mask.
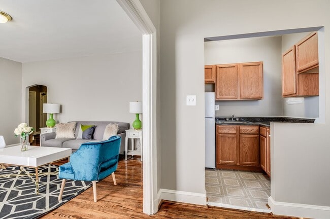
[[[263,98],[263,63],[241,63],[240,66],[240,97],[241,99]]]

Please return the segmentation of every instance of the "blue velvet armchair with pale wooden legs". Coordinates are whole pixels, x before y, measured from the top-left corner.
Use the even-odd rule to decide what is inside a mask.
[[[120,136],[112,136],[109,140],[86,142],[70,156],[70,162],[59,166],[58,177],[62,178],[62,185],[58,200],[62,194],[66,179],[92,181],[94,202],[96,198],[96,181],[112,174],[116,183],[115,170],[118,165]]]

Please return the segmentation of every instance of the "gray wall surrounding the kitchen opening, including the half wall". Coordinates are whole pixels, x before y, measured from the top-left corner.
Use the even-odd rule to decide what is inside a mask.
[[[299,10],[296,9],[296,2],[284,0],[160,2],[161,188],[205,192],[204,38],[321,25],[324,29],[330,28],[328,1],[300,1]],[[307,16],[311,11],[313,16]],[[330,39],[329,32],[324,32],[324,39]],[[325,44],[324,50],[330,54],[330,44]],[[330,57],[327,55],[324,59],[323,69],[328,69]],[[323,88],[330,86],[330,78],[321,82]],[[325,103],[329,103],[330,90],[323,88]],[[196,106],[185,105],[186,95],[196,95]],[[329,104],[320,102],[320,105]],[[330,111],[325,110],[325,117],[329,116]],[[325,182],[330,184],[330,173],[322,168],[330,165],[329,137],[325,134],[330,131],[329,121],[322,127],[314,124],[307,129],[300,124],[285,125],[287,134],[276,130],[272,133],[273,149],[290,158],[272,157],[272,197],[279,202],[330,206],[330,196],[322,195],[322,191],[328,191]],[[324,134],[322,138],[320,129]],[[286,140],[288,134],[292,137]],[[296,138],[299,140],[295,141]],[[299,148],[291,150],[292,145]],[[311,154],[311,147],[317,151]],[[308,160],[301,159],[308,155],[311,155]],[[301,167],[302,162],[315,163],[320,168]],[[279,174],[277,169],[286,171],[282,168],[285,166],[290,167],[288,174]],[[296,175],[305,175],[305,178],[301,180]],[[283,179],[290,184],[284,185]]]

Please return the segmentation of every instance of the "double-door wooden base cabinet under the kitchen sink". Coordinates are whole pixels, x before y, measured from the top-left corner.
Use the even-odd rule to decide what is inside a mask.
[[[217,125],[216,168],[261,170],[259,127]]]

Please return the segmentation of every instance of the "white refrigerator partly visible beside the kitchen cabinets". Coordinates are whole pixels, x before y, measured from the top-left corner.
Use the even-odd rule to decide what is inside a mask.
[[[205,92],[205,167],[215,168],[215,93]]]

